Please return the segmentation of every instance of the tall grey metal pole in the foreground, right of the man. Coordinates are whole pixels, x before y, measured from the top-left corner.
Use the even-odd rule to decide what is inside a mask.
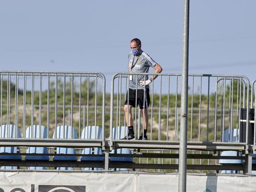
[[[188,74],[189,74],[189,0],[184,0],[183,19],[183,62],[182,92],[180,111],[180,156],[179,192],[186,192],[187,177],[187,112],[188,112]]]

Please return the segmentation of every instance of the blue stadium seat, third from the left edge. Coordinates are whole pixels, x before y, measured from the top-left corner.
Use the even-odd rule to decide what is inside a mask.
[[[77,139],[76,130],[74,127],[65,125],[58,126],[56,132],[54,131],[53,138],[63,138],[63,139]],[[57,154],[76,154],[74,148],[57,147]],[[54,156],[54,161],[77,161],[77,156]],[[73,168],[58,167],[57,170],[74,170]]]

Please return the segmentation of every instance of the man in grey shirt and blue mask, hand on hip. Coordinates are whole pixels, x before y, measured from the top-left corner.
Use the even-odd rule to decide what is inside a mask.
[[[159,64],[157,64],[148,54],[141,49],[141,42],[135,38],[131,40],[131,53],[128,56],[128,71],[129,73],[148,73],[149,67],[155,69],[155,73],[161,73],[163,70]],[[136,79],[137,77],[137,79]],[[145,79],[144,79],[145,77]],[[147,108],[149,107],[149,84],[157,78],[157,75],[148,77],[148,75],[129,75],[130,86],[129,86],[129,102],[128,102],[128,91],[126,93],[125,100],[125,118],[128,125],[128,135],[122,139],[134,139],[135,134],[133,130],[133,117],[131,114],[131,108],[139,105],[142,116],[144,115],[144,132],[139,137],[139,140],[147,140],[147,126],[149,122],[149,116]],[[145,86],[145,89],[144,89]],[[136,97],[137,89],[137,97]],[[145,90],[145,91],[144,91]],[[144,137],[143,137],[144,135]]]

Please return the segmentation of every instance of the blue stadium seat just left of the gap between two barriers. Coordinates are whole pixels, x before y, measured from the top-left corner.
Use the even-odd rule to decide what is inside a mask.
[[[88,132],[88,133],[87,133]],[[95,137],[96,133],[96,137]],[[88,135],[87,135],[88,134]],[[86,126],[81,134],[81,139],[102,139],[102,128],[99,126]],[[93,148],[85,148],[81,154],[92,154]],[[94,148],[94,154],[102,155],[103,152],[99,147]],[[104,157],[86,157],[81,156],[81,161],[104,161]],[[86,171],[91,171],[92,168],[85,168]],[[93,168],[93,170],[103,170],[102,168]]]

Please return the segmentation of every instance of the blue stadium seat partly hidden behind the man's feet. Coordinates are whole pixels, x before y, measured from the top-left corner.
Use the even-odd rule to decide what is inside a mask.
[[[127,127],[125,126],[121,126],[121,127],[114,127],[112,130],[112,139],[120,139],[125,137],[125,135],[127,134]],[[111,153],[117,154],[131,154],[131,150],[127,149],[127,148],[121,148],[121,149],[117,149],[117,150],[112,150]],[[110,161],[123,161],[123,162],[133,162],[133,157],[109,157]],[[126,170],[126,169],[121,169],[121,168],[117,168],[116,170]]]

